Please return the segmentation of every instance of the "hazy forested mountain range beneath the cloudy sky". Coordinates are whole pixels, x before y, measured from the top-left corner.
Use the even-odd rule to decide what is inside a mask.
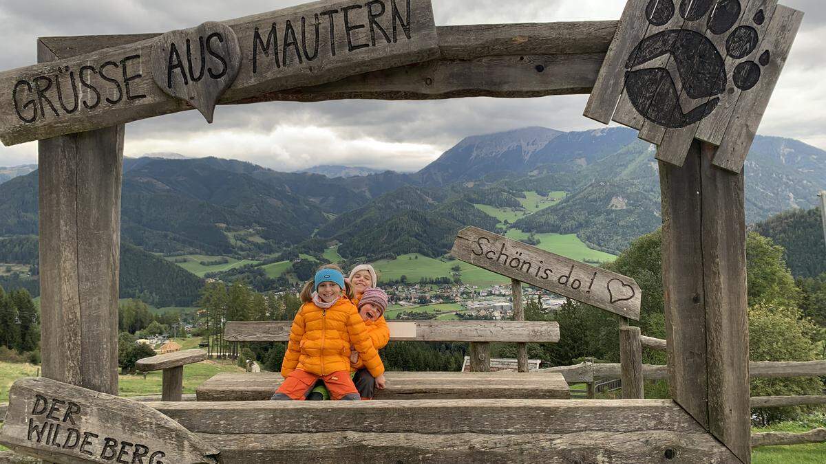
[[[124,160],[121,200],[123,241],[153,253],[266,260],[314,238],[339,244],[344,258],[438,257],[463,225],[577,234],[591,248],[619,253],[661,224],[653,146],[624,128],[474,135],[417,173],[281,173],[231,159],[160,155]],[[826,152],[758,136],[745,176],[749,223],[813,208],[826,187]],[[525,208],[527,195],[551,192],[564,197]],[[497,219],[491,209],[513,217]],[[0,237],[31,234],[36,171],[0,185]]]

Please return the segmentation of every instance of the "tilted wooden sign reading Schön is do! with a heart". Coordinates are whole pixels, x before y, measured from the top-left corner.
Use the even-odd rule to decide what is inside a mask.
[[[450,253],[480,268],[639,320],[642,291],[631,277],[477,227],[459,230]]]

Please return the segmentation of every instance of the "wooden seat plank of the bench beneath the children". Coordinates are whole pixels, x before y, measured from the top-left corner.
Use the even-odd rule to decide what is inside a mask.
[[[387,372],[387,388],[377,400],[542,399],[571,397],[557,372]],[[281,385],[277,372],[213,376],[197,387],[198,401],[269,400]]]

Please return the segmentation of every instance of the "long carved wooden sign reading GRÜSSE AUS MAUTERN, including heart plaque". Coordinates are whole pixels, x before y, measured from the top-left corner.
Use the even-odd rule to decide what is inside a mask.
[[[19,144],[192,107],[209,120],[214,99],[237,102],[438,57],[430,0],[322,0],[0,73],[0,140]]]

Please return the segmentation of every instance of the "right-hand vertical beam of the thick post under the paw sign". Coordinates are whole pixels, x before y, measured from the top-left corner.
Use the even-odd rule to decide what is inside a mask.
[[[709,429],[744,462],[751,449],[748,405],[748,294],[743,174],[711,164],[714,145],[700,154]],[[684,328],[689,329],[689,328]]]

